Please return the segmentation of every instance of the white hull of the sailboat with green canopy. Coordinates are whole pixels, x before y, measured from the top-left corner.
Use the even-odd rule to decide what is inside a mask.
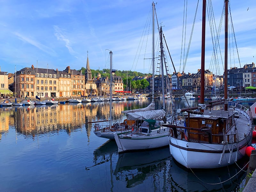
[[[156,135],[130,136],[114,134],[118,153],[160,148],[169,145],[168,132]]]

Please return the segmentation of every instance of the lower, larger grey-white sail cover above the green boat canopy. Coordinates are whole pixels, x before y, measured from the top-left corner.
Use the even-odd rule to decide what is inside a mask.
[[[127,120],[145,120],[145,119],[154,119],[154,118],[159,118],[164,116],[165,116],[165,111],[163,109],[126,114]]]

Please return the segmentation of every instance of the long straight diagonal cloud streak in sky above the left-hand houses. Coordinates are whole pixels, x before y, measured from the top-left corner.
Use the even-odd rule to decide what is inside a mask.
[[[21,41],[29,43],[31,45],[34,45],[35,47],[37,47],[41,51],[46,52],[46,53],[48,53],[49,55],[52,55],[52,56],[57,56],[57,53],[54,50],[52,50],[50,47],[48,47],[46,45],[43,45],[43,44],[37,42],[36,40],[33,40],[33,39],[31,39],[27,36],[21,35],[18,32],[13,32],[13,34],[15,36],[17,36],[18,39],[20,39]]]

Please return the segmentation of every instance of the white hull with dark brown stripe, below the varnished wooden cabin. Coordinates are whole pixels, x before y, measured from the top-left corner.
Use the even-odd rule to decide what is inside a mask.
[[[224,144],[209,144],[188,142],[172,137],[170,139],[170,152],[173,158],[183,166],[191,169],[196,168],[219,168],[234,164],[245,155],[247,141],[239,143],[239,151],[236,150],[237,143],[228,144],[226,152],[223,152]],[[250,140],[249,136],[247,138]],[[176,144],[176,145],[175,145]],[[180,146],[180,147],[178,147]],[[232,153],[230,153],[230,151]]]

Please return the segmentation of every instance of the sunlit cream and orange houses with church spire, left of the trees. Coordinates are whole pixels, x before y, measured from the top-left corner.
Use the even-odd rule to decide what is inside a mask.
[[[112,74],[112,91],[123,91],[123,80]],[[15,74],[0,72],[1,96],[16,97],[75,97],[108,94],[110,79],[93,77],[87,56],[85,74],[66,67],[65,70],[31,67],[22,68]],[[101,82],[100,82],[101,81]],[[100,83],[99,83],[100,82]]]

